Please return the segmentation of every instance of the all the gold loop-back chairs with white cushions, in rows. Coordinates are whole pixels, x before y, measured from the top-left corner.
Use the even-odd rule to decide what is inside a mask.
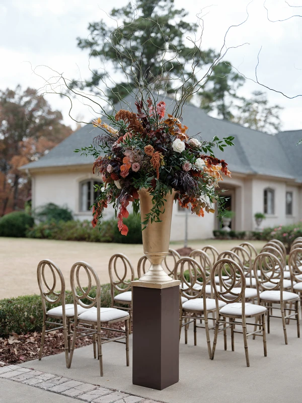
[[[194,344],[196,345],[197,327],[205,327],[209,357],[214,357],[217,334],[223,331],[224,348],[226,349],[226,330],[231,328],[232,350],[234,350],[234,333],[236,324],[242,324],[247,365],[249,366],[247,337],[261,334],[263,336],[266,355],[265,315],[267,316],[268,332],[269,318],[275,304],[280,305],[284,329],[285,343],[286,321],[295,319],[299,337],[298,300],[296,293],[302,291],[302,239],[297,239],[289,254],[288,265],[286,250],[279,241],[267,243],[258,254],[254,246],[243,242],[230,251],[219,254],[213,246],[205,246],[194,250],[189,257],[181,258],[170,249],[165,259],[164,267],[167,273],[181,280],[180,285],[180,333],[185,327],[185,342],[191,322],[194,323]],[[172,259],[172,264],[171,260]],[[137,264],[137,274],[141,277],[147,270],[147,259],[142,256]],[[53,276],[53,285],[50,287],[45,278],[45,267],[48,266]],[[122,266],[122,268],[121,268]],[[88,288],[80,284],[80,269],[88,276]],[[56,325],[63,329],[66,365],[69,368],[72,361],[74,345],[77,338],[91,335],[93,337],[94,357],[100,359],[100,373],[103,375],[102,344],[110,341],[126,344],[126,362],[129,365],[128,335],[131,330],[132,292],[130,281],[135,279],[133,266],[123,254],[115,254],[109,261],[109,277],[111,284],[111,307],[100,306],[101,285],[96,272],[85,262],[75,263],[70,272],[70,285],[74,304],[65,304],[65,284],[59,268],[50,260],[43,260],[38,265],[38,283],[43,305],[43,330],[39,359],[42,357],[46,324]],[[55,291],[56,275],[58,275],[61,290]],[[299,279],[298,277],[301,276]],[[297,281],[295,281],[296,279]],[[286,282],[287,281],[287,282]],[[96,293],[92,297],[92,283],[96,284]],[[289,282],[289,283],[288,283]],[[289,286],[288,286],[289,284]],[[300,286],[300,289],[296,286]],[[295,288],[294,288],[295,287]],[[290,290],[290,291],[284,291]],[[276,294],[279,293],[279,294]],[[266,294],[265,294],[266,293]],[[293,294],[293,296],[292,296]],[[278,296],[277,296],[278,295]],[[257,301],[257,304],[255,303]],[[61,306],[46,310],[46,303]],[[235,305],[232,305],[235,304]],[[289,307],[287,307],[289,304]],[[294,308],[292,308],[294,305]],[[285,308],[288,315],[285,315]],[[240,314],[238,314],[240,311]],[[291,312],[294,313],[291,313]],[[208,314],[209,313],[209,317]],[[237,315],[235,314],[237,313]],[[62,324],[47,320],[60,319]],[[247,333],[247,317],[255,317],[254,331]],[[229,322],[226,321],[229,318]],[[237,321],[235,321],[237,319]],[[241,319],[241,322],[238,321]],[[203,321],[204,326],[197,324]],[[208,320],[213,321],[209,327]],[[71,335],[70,325],[74,322]],[[125,330],[104,327],[114,322],[124,321]],[[221,328],[222,326],[222,328]],[[259,330],[257,330],[259,328]],[[214,342],[211,347],[209,330],[214,329]],[[118,337],[109,338],[110,332],[121,332]],[[106,337],[102,333],[107,332]],[[125,341],[124,341],[124,340]],[[72,342],[71,342],[72,340]]]

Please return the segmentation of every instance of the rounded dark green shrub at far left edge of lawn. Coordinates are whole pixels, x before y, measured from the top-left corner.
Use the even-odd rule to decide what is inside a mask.
[[[33,225],[32,216],[23,211],[15,211],[0,219],[0,236],[25,237],[27,229]]]

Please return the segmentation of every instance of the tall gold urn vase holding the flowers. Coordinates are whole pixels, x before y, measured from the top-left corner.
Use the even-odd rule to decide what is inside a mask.
[[[139,203],[141,220],[145,220],[146,214],[153,208],[152,195],[146,190],[139,190]],[[143,252],[151,265],[147,273],[140,279],[140,282],[168,283],[173,279],[164,271],[162,262],[169,252],[172,210],[175,191],[165,196],[163,213],[160,215],[160,223],[150,223],[142,231]],[[142,226],[143,227],[143,226]]]

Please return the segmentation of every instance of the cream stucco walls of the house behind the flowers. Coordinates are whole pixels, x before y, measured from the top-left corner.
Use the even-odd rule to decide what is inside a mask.
[[[79,220],[91,220],[91,212],[80,211],[80,182],[85,179],[98,179],[91,173],[90,166],[79,166],[61,169],[45,169],[39,172],[31,172],[32,175],[32,200],[33,208],[55,203],[59,206],[67,206],[72,210],[74,218]],[[286,183],[286,180],[263,179],[241,174],[233,174],[232,178],[226,178],[220,182],[220,188],[229,190],[232,194],[232,210],[236,216],[232,228],[236,231],[254,230],[254,214],[263,212],[263,192],[266,187],[275,191],[275,213],[268,216],[262,222],[262,227],[272,227],[295,223],[302,219],[302,186]],[[286,191],[293,193],[293,214],[285,214]],[[228,194],[226,191],[223,194]],[[105,209],[104,218],[114,215],[112,208]],[[217,214],[207,214],[197,217],[195,214],[188,216],[188,239],[205,239],[213,237],[213,229],[218,228]],[[185,235],[185,213],[173,208],[171,240],[183,240]]]

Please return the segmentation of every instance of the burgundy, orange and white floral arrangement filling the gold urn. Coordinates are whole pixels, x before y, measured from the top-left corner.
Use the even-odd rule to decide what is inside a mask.
[[[95,227],[104,208],[113,205],[118,228],[127,235],[123,223],[132,202],[133,213],[139,212],[139,189],[146,188],[153,196],[153,208],[142,222],[159,222],[165,195],[174,189],[175,200],[192,213],[204,216],[214,213],[217,203],[221,213],[224,198],[216,192],[222,173],[231,177],[224,160],[215,158],[213,148],[232,146],[234,137],[211,142],[189,137],[188,127],[181,120],[166,113],[164,101],[151,98],[136,100],[137,112],[121,109],[115,115],[107,114],[108,123],[101,118],[93,120],[102,132],[90,147],[76,152],[93,155],[93,172],[102,176],[104,186],[96,185],[100,192],[93,205],[92,225]]]

